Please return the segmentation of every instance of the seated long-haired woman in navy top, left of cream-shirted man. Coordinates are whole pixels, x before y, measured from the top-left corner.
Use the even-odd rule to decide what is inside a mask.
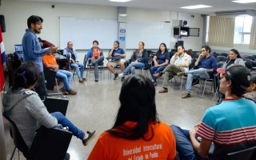
[[[157,86],[157,78],[154,77],[154,74],[160,73],[162,70],[166,68],[166,66],[169,64],[170,60],[170,54],[167,50],[166,44],[161,43],[159,46],[159,50],[155,54],[153,58],[154,66],[150,68],[150,74],[152,77],[152,82],[154,83],[154,86]]]

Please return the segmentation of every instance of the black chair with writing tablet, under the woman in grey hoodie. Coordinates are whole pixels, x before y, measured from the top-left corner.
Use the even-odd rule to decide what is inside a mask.
[[[70,131],[51,128],[47,129],[42,126],[34,137],[30,150],[26,146],[22,135],[20,134],[16,124],[6,114],[2,114],[8,122],[10,122],[10,135],[14,140],[14,151],[10,157],[13,159],[16,148],[22,152],[24,157],[28,160],[45,160],[45,159],[64,159],[66,150],[70,145],[72,133]]]

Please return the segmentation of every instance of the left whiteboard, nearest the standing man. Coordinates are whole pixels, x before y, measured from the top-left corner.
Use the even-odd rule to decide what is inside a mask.
[[[109,19],[60,17],[60,49],[73,42],[74,49],[88,50],[98,40],[102,49],[110,49],[118,39],[118,22]]]

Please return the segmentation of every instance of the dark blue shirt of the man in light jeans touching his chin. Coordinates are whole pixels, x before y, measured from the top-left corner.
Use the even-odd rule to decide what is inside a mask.
[[[208,74],[209,74],[210,76],[212,76],[212,74],[213,74],[214,72],[216,72],[217,67],[218,67],[218,66],[217,66],[217,60],[216,60],[216,58],[214,58],[214,56],[212,56],[212,55],[210,55],[208,58],[202,57],[202,58],[200,59],[200,61],[199,61],[198,66],[199,66],[200,68],[205,68],[205,69],[207,69],[207,70],[213,69],[213,70],[214,70],[213,72],[208,72]]]

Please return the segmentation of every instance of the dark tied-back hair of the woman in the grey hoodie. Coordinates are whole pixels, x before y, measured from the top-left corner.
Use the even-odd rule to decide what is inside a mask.
[[[24,62],[14,73],[14,86],[12,90],[18,88],[28,88],[38,82],[40,73],[34,62]]]

